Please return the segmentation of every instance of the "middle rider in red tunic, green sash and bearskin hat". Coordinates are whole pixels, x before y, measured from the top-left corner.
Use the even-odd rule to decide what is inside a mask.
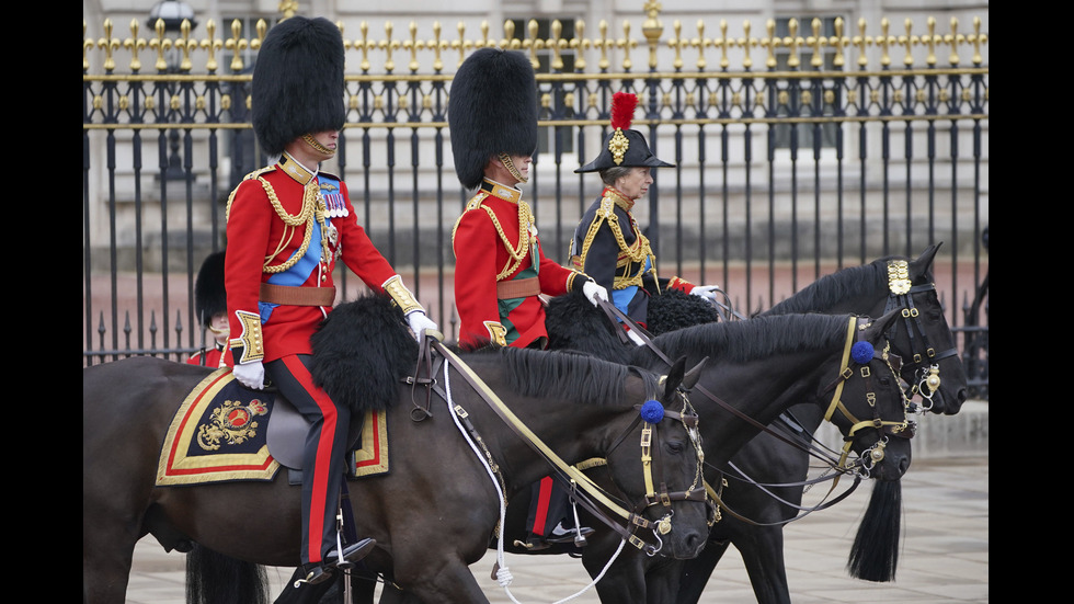
[[[548,333],[539,294],[580,289],[596,305],[607,292],[545,257],[534,214],[517,187],[529,180],[537,149],[537,82],[529,59],[498,48],[476,50],[452,82],[447,117],[459,182],[477,190],[452,233],[459,344],[544,349]],[[563,527],[568,506],[567,492],[551,478],[534,486],[532,549],[592,532]]]

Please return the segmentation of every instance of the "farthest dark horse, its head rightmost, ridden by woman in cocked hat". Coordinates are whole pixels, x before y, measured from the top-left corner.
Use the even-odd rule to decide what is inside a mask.
[[[925,410],[933,414],[956,414],[966,402],[968,378],[933,282],[933,264],[939,247],[939,243],[929,246],[916,259],[886,257],[823,276],[762,316],[854,312],[877,317],[899,310],[900,318],[888,338],[892,351],[902,358],[903,378],[923,398]],[[929,381],[936,379],[939,385],[930,391]],[[806,404],[791,408],[789,419],[791,424],[798,424],[792,430],[806,440],[823,421],[814,407]],[[799,508],[802,482],[809,472],[810,456],[800,447],[762,433],[731,463],[724,501],[753,523],[724,514],[723,521],[713,525],[705,550],[683,562],[675,602],[698,602],[720,558],[733,544],[742,556],[757,602],[787,604],[791,599],[784,562],[782,527],[802,511]],[[766,487],[767,491],[779,499],[756,483],[772,486]],[[898,497],[899,486],[899,482],[875,485],[875,504],[882,498]],[[859,539],[869,526],[862,522],[860,528]],[[857,558],[848,567],[852,575],[860,579],[893,579],[893,568],[872,569]]]

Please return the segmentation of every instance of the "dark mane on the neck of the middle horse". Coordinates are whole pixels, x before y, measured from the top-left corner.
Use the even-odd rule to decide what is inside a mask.
[[[742,363],[776,354],[842,346],[849,315],[764,315],[744,321],[706,323],[653,338],[653,344],[671,356],[687,351],[721,362]],[[652,352],[631,351],[631,360],[648,365]]]

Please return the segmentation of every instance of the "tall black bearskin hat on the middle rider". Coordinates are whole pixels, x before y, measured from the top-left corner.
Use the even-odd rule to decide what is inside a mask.
[[[452,80],[447,104],[455,172],[467,189],[484,178],[499,153],[528,156],[537,149],[537,80],[518,52],[479,48]]]

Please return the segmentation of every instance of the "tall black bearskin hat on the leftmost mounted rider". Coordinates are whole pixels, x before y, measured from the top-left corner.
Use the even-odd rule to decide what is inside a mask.
[[[340,29],[322,16],[276,24],[261,44],[251,88],[253,133],[268,156],[302,135],[343,128]]]

